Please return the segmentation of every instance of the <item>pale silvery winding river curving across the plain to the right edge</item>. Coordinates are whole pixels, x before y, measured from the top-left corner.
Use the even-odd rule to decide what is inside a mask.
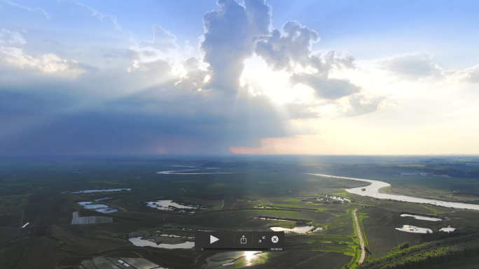
[[[369,182],[370,185],[366,187],[357,187],[352,189],[346,189],[347,192],[350,194],[357,194],[361,196],[369,196],[374,198],[380,199],[391,199],[395,201],[403,201],[409,203],[429,203],[431,205],[440,205],[446,208],[461,208],[461,209],[472,209],[472,210],[479,210],[479,205],[474,205],[471,203],[454,203],[454,202],[446,202],[440,200],[433,200],[433,199],[426,199],[426,198],[418,198],[412,196],[405,196],[405,195],[395,195],[395,194],[383,194],[380,192],[381,188],[390,187],[391,184],[377,181],[377,180],[365,180],[363,178],[354,178],[354,177],[338,177],[335,175],[324,175],[324,174],[308,174],[308,175],[319,175],[321,177],[335,177],[344,180],[359,180],[364,182]],[[365,191],[361,189],[366,189]]]

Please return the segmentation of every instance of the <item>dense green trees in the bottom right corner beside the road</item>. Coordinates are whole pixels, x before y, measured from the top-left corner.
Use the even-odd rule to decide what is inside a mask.
[[[417,269],[479,255],[479,233],[394,247],[386,256],[359,265],[358,269]]]

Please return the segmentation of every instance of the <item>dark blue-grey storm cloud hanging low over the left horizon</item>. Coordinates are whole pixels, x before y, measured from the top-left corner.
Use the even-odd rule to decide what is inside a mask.
[[[250,145],[261,137],[286,136],[281,126],[283,119],[262,98],[227,101],[222,95],[197,98],[146,89],[97,103],[93,108],[56,115],[81,103],[74,98],[76,94],[64,95],[67,96],[57,99],[54,92],[44,92],[41,96],[32,92],[23,92],[21,96],[1,92],[4,103],[18,107],[22,114],[21,123],[14,122],[19,119],[18,112],[3,115],[2,121],[22,131],[0,131],[0,152],[6,155],[226,153],[231,143]],[[65,103],[67,99],[71,101]],[[37,110],[45,116],[39,125],[35,124],[39,120]]]

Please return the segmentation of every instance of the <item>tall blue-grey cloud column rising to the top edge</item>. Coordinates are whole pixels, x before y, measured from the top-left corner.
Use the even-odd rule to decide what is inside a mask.
[[[209,87],[234,90],[240,85],[244,60],[251,57],[256,38],[268,34],[270,6],[264,0],[218,0],[221,10],[203,17],[204,41],[201,49],[209,64]]]

